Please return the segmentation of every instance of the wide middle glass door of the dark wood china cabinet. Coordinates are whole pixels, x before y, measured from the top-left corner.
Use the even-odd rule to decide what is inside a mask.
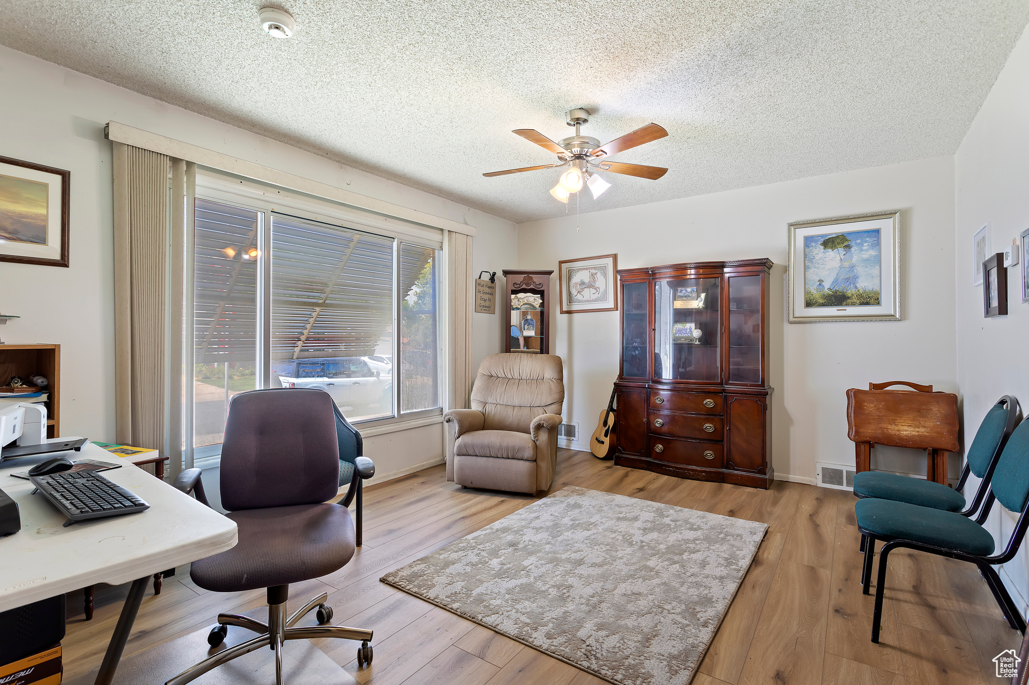
[[[655,380],[721,380],[718,278],[654,283]]]

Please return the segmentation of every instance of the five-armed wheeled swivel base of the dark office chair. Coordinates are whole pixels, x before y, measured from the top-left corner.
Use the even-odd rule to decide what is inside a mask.
[[[269,596],[272,596],[270,588]],[[240,614],[218,614],[218,625],[211,630],[208,636],[208,644],[212,647],[220,645],[228,633],[229,625],[245,627],[248,631],[257,633],[256,638],[241,642],[240,644],[223,649],[217,654],[212,654],[200,663],[191,665],[179,675],[165,683],[165,685],[184,685],[197,678],[200,678],[208,671],[227,663],[238,656],[249,654],[261,647],[271,647],[275,650],[275,682],[276,685],[283,685],[282,681],[282,646],[287,640],[314,640],[315,638],[339,638],[342,640],[360,640],[361,646],[357,649],[358,665],[371,663],[372,651],[368,641],[371,640],[371,631],[357,627],[346,627],[343,625],[310,625],[305,627],[293,627],[296,621],[309,614],[315,607],[318,607],[318,619],[325,620],[332,618],[332,607],[325,605],[328,599],[326,593],[322,593],[306,605],[286,617],[285,597],[279,604],[269,604],[269,622],[262,623],[259,620],[243,616]]]

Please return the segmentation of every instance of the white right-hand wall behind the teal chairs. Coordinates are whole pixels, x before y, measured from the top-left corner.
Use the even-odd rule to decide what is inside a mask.
[[[955,286],[958,385],[965,425],[979,425],[1000,395],[1013,394],[1029,414],[1029,304],[1022,304],[1021,264],[1007,270],[1008,314],[983,316],[983,290],[972,286],[972,235],[990,225],[991,249],[1001,252],[1029,228],[1029,33],[1012,51],[955,156]],[[1006,543],[1017,516],[994,505],[988,527]],[[1029,554],[1003,573],[1009,588],[1029,602]],[[1005,577],[1006,576],[1006,577]],[[1018,601],[1018,600],[1016,600]]]

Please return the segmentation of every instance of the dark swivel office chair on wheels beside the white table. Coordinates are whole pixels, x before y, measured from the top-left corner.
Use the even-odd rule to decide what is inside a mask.
[[[220,487],[221,505],[239,528],[239,542],[193,562],[189,575],[201,587],[216,593],[267,587],[269,621],[218,614],[219,624],[208,638],[212,646],[224,640],[229,625],[253,631],[257,637],[213,654],[166,685],[183,685],[265,646],[275,650],[276,684],[282,685],[282,647],[287,640],[359,640],[358,664],[371,662],[371,631],[294,627],[316,607],[319,622],[331,620],[326,593],[286,615],[289,583],[332,573],[354,556],[350,512],[346,506],[327,503],[340,483],[334,408],[326,392],[314,388],[251,390],[233,398],[221,448]],[[355,457],[355,471],[367,472],[367,464],[358,461]],[[359,491],[359,482],[351,485],[351,490]]]

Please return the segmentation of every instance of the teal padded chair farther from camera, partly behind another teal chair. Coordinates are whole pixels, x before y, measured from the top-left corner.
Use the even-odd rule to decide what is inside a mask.
[[[1019,401],[1005,394],[986,413],[979,425],[975,439],[968,448],[965,466],[961,470],[961,480],[954,490],[946,485],[923,481],[921,479],[883,473],[882,471],[861,471],[854,475],[854,494],[858,497],[874,497],[876,499],[892,499],[898,502],[928,506],[945,511],[957,511],[970,517],[979,510],[983,498],[990,489],[990,480],[997,459],[1007,444],[1015,426],[1022,422],[1022,409]],[[971,502],[961,495],[969,473],[982,479]],[[861,551],[864,551],[864,539],[861,540]]]

